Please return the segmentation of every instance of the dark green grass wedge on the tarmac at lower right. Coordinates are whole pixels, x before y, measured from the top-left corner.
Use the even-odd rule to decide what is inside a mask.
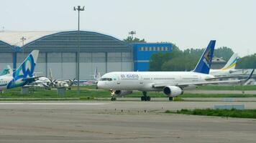
[[[237,118],[253,118],[256,119],[256,109],[181,109],[176,112],[167,110],[165,113],[170,114],[193,114],[217,117],[237,117]]]

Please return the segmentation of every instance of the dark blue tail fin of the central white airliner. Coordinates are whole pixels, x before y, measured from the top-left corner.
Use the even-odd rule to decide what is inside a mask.
[[[216,40],[211,40],[207,48],[204,50],[204,54],[202,54],[200,60],[198,61],[196,68],[193,70],[202,74],[209,74],[209,70],[211,68],[211,59],[214,55],[214,46]]]

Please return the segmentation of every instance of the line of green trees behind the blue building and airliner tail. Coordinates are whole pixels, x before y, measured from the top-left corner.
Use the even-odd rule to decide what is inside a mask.
[[[127,43],[146,43],[145,39],[127,36]],[[204,49],[180,50],[173,44],[171,53],[157,53],[150,58],[150,71],[191,71],[195,68]],[[214,56],[228,61],[234,51],[227,46],[214,50]],[[244,56],[237,61],[236,69],[256,69],[256,54]]]

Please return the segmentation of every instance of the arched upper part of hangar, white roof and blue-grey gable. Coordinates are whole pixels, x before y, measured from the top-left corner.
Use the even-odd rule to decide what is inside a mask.
[[[5,33],[5,34],[4,34]],[[79,36],[80,35],[80,36]],[[24,46],[22,46],[22,36]],[[24,51],[39,49],[45,52],[71,52],[77,51],[78,38],[80,37],[80,51],[101,52],[101,51],[132,51],[132,47],[106,34],[93,31],[28,31],[28,32],[1,32],[0,41],[22,47]]]

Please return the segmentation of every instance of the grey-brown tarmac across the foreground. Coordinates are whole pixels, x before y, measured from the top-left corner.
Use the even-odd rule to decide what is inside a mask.
[[[0,142],[255,142],[256,119],[165,114],[255,102],[0,102]]]

